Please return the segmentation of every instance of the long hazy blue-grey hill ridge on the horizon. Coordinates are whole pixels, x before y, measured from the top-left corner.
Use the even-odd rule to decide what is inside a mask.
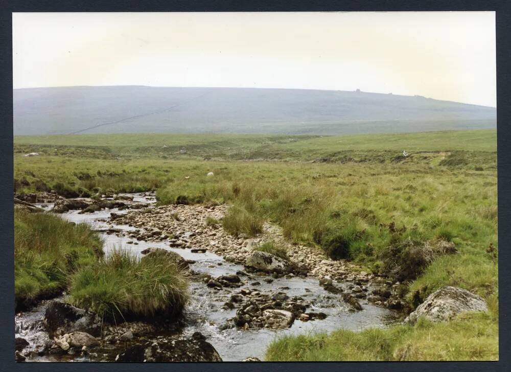
[[[14,134],[397,133],[496,127],[496,109],[361,91],[74,86],[13,90]]]

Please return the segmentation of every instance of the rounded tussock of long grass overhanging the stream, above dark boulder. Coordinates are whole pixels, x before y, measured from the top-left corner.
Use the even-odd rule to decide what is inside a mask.
[[[71,278],[70,301],[106,319],[171,319],[188,299],[188,280],[164,256],[138,260],[127,250],[114,249],[95,265]]]

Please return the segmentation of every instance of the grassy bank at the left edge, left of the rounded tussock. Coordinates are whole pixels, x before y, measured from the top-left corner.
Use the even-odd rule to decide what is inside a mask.
[[[14,213],[14,290],[16,305],[63,290],[68,275],[95,263],[103,242],[86,224],[75,225],[45,213]]]

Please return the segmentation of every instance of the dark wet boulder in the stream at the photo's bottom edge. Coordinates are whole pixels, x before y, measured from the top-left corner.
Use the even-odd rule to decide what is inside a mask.
[[[213,345],[203,339],[161,339],[136,344],[115,358],[116,362],[221,362]]]

